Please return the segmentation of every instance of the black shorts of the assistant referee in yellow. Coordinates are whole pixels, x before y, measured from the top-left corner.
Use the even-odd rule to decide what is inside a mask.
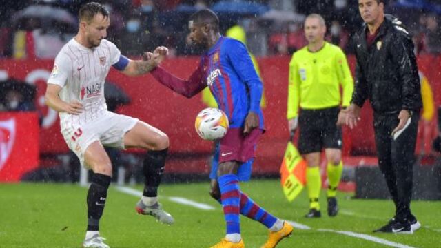
[[[300,110],[298,150],[300,154],[321,152],[323,148],[342,149],[342,129],[337,127],[340,107]]]

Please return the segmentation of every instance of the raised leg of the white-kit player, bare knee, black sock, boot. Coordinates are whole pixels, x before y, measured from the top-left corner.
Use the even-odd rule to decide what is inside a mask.
[[[124,136],[125,147],[139,147],[147,150],[143,162],[145,185],[143,196],[136,204],[139,214],[151,215],[161,223],[171,225],[173,217],[162,209],[158,203],[158,187],[165,169],[165,159],[169,140],[166,134],[147,123],[139,121]]]

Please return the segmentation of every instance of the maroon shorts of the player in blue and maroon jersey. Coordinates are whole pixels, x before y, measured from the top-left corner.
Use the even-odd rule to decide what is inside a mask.
[[[254,158],[257,141],[263,131],[255,128],[249,134],[243,134],[242,128],[229,128],[219,141],[219,163],[225,161],[247,162]]]

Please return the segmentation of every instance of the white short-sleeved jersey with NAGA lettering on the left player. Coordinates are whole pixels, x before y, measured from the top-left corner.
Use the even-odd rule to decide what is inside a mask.
[[[55,58],[48,83],[59,85],[60,99],[80,101],[83,112],[72,115],[60,112],[61,129],[90,123],[107,112],[104,82],[110,66],[119,61],[121,52],[114,43],[101,40],[96,48],[85,48],[75,39],[66,43]]]

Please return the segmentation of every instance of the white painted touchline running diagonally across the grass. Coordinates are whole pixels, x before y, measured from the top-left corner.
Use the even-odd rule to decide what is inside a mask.
[[[136,190],[136,189],[132,189],[130,187],[116,186],[116,189],[119,192],[123,192],[125,194],[130,194],[132,196],[142,196],[142,194],[143,194],[143,192],[141,192],[139,190]],[[214,209],[216,209],[215,207],[212,207],[212,206],[207,205],[205,203],[197,203],[194,200],[189,200],[189,199],[183,198],[183,197],[170,196],[170,197],[167,197],[167,200],[170,200],[170,201],[172,201],[174,203],[179,203],[179,204],[188,205],[188,206],[191,206],[191,207],[196,207],[197,209],[202,209],[202,210],[214,210]],[[349,216],[358,216],[358,214],[354,214],[351,211],[343,211],[343,212],[346,215],[349,215]],[[341,211],[340,211],[340,213],[341,213]],[[362,216],[360,216],[360,217],[362,217]],[[369,217],[366,216],[364,218],[369,218]],[[311,230],[312,229],[311,227],[309,227],[307,225],[303,225],[301,223],[296,223],[295,221],[292,221],[292,220],[286,220],[286,221],[289,224],[291,224],[293,227],[296,227],[296,229],[302,229],[302,230]],[[317,230],[318,231],[327,231],[327,232],[336,233],[336,234],[343,234],[343,235],[346,235],[346,236],[351,236],[353,238],[361,238],[361,239],[368,240],[368,241],[371,241],[371,242],[377,242],[377,243],[382,244],[382,245],[389,245],[391,247],[415,248],[415,247],[411,247],[409,245],[400,244],[398,242],[392,242],[392,241],[389,241],[389,240],[385,240],[383,238],[377,238],[377,237],[370,236],[370,235],[367,235],[367,234],[358,234],[358,233],[355,233],[355,232],[352,232],[352,231],[336,231],[336,230],[332,230],[332,229],[317,229]]]

